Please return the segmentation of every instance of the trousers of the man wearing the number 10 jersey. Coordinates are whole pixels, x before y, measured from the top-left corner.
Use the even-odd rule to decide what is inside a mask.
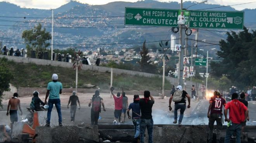
[[[217,139],[220,137],[220,130],[222,128],[222,115],[221,114],[211,114],[209,118],[209,142],[211,143],[213,141],[213,127],[214,122],[217,123]]]

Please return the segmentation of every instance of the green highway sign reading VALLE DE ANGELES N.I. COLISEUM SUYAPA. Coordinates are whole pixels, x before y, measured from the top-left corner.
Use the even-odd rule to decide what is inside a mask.
[[[189,28],[243,29],[244,12],[190,10]]]

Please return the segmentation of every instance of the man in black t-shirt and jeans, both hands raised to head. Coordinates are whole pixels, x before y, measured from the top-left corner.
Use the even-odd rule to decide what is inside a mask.
[[[149,99],[150,98],[150,99]],[[147,128],[147,134],[149,135],[149,143],[153,143],[153,124],[152,119],[152,107],[155,103],[155,99],[150,95],[149,91],[144,91],[144,98],[140,99],[140,143],[144,143],[145,130]]]

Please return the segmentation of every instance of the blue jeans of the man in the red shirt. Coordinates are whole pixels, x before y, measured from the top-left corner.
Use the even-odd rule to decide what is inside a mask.
[[[230,142],[230,137],[233,135],[234,132],[236,135],[236,138],[235,138],[236,143],[241,143],[241,130],[242,130],[241,124],[232,123],[232,126],[227,127],[224,143]]]

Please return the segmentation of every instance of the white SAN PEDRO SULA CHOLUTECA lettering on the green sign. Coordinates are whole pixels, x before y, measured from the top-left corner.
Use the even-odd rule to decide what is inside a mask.
[[[163,12],[163,11],[143,11],[142,17],[154,17],[154,18],[144,18],[142,22],[144,24],[162,24],[162,25],[176,25],[177,24],[177,12]],[[155,18],[157,17],[157,18]],[[158,19],[159,17],[163,17],[163,19]],[[167,17],[175,17],[175,20],[172,19],[164,19]]]

